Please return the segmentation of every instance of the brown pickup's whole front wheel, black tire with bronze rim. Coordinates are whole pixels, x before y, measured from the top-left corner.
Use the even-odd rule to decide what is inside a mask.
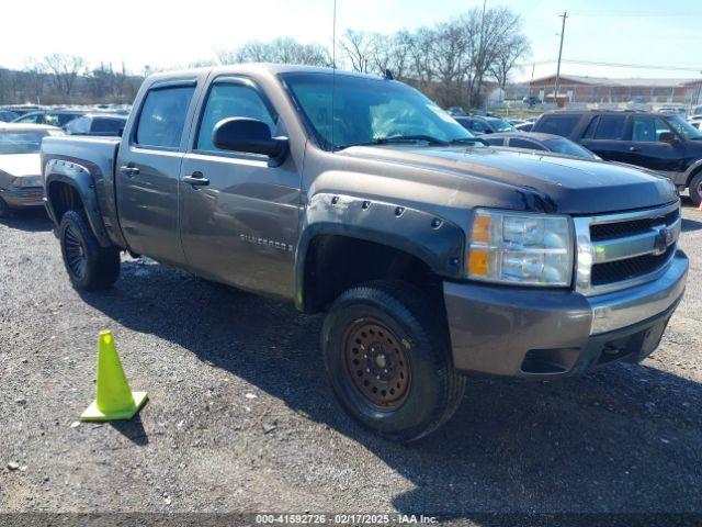
[[[321,346],[335,394],[386,439],[431,434],[463,399],[465,378],[453,368],[437,304],[408,283],[369,282],[341,294],[325,319]]]

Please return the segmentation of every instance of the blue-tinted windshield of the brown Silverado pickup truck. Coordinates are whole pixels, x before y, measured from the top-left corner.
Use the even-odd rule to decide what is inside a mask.
[[[401,82],[343,74],[332,80],[326,72],[286,74],[282,79],[317,141],[329,150],[404,142],[474,143],[451,115]]]

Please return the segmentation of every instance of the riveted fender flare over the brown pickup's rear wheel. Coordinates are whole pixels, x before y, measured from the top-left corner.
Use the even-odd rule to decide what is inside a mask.
[[[70,186],[78,192],[78,195],[83,202],[83,209],[88,216],[90,228],[92,228],[100,245],[102,247],[111,247],[113,244],[102,222],[98,192],[95,191],[95,183],[90,170],[78,162],[65,159],[49,159],[44,166],[44,173],[46,175],[46,209],[54,223],[58,226],[59,220],[56,216],[54,203],[52,203],[49,189],[52,183],[61,182]]]

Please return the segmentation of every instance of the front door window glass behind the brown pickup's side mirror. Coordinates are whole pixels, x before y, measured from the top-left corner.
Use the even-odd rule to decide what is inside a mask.
[[[275,134],[276,120],[271,115],[261,96],[250,86],[234,82],[219,82],[210,90],[205,111],[197,133],[197,150],[217,152],[212,134],[215,125],[223,119],[250,117],[263,121]]]

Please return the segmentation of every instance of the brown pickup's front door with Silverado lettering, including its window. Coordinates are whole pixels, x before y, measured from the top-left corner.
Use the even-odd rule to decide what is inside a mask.
[[[220,150],[215,125],[228,117],[264,122],[287,135],[263,90],[251,79],[214,79],[181,170],[181,237],[189,268],[244,289],[291,299],[299,222],[301,167],[292,155]],[[295,137],[291,137],[291,142]]]

